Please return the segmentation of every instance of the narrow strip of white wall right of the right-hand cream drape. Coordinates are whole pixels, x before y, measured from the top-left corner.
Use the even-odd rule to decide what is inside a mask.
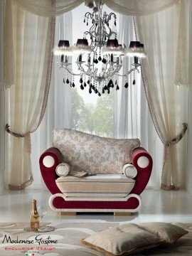
[[[186,188],[192,195],[192,3],[189,1],[189,81],[190,89],[188,92],[188,163],[187,163],[187,176]]]

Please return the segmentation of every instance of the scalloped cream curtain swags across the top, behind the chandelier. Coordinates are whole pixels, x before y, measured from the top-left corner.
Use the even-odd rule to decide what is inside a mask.
[[[6,0],[10,1],[10,0]],[[12,0],[22,9],[39,16],[58,16],[87,0]],[[154,14],[177,4],[179,0],[102,0],[110,9],[129,16]],[[99,0],[97,0],[99,2]]]

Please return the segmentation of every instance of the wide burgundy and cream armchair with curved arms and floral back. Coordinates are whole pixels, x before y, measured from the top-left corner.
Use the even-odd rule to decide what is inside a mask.
[[[70,129],[53,129],[53,147],[47,149],[39,160],[43,181],[52,193],[50,208],[60,213],[137,212],[142,204],[140,194],[149,181],[153,161],[149,153],[139,146],[139,139],[133,140],[106,139]],[[110,150],[104,145],[110,146]],[[122,152],[128,149],[129,154],[125,152],[122,156]],[[103,150],[110,151],[110,154],[106,155]],[[97,164],[101,160],[104,171]],[[73,170],[89,169],[95,175],[59,177],[55,169],[63,161]],[[127,163],[136,171],[134,176],[123,174],[123,166]]]

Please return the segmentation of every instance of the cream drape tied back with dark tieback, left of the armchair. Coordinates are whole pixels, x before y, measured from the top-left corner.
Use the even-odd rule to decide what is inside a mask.
[[[25,188],[32,181],[31,137],[46,110],[55,18],[36,16],[6,1],[5,16],[12,18],[14,85],[9,88],[9,171],[10,189]],[[5,27],[7,28],[7,26]],[[5,36],[5,45],[6,36]]]

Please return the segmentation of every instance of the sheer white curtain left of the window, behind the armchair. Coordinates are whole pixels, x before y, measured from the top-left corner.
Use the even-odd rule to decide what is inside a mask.
[[[72,45],[72,13],[56,17],[55,20],[55,45],[60,39],[69,40]],[[41,172],[39,170],[39,156],[52,145],[52,129],[70,128],[71,109],[71,88],[63,84],[63,71],[58,71],[58,59],[53,58],[53,72],[48,97],[48,107],[46,114],[37,131],[31,135],[32,153],[32,174],[33,184],[31,188],[38,188],[43,184]]]

